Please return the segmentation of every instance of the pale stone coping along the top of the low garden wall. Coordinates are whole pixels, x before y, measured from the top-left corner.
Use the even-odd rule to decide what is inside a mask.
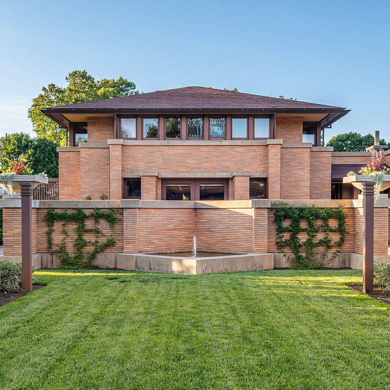
[[[283,200],[283,199],[282,199]],[[119,209],[119,208],[152,208],[152,209],[247,209],[270,208],[275,205],[276,199],[248,199],[248,200],[33,200],[33,208],[83,208],[83,209]],[[319,208],[336,208],[340,205],[347,208],[363,207],[363,199],[285,199],[284,203],[291,206],[311,206]],[[20,198],[0,199],[0,207],[20,208]],[[374,207],[390,208],[390,198],[379,198]]]

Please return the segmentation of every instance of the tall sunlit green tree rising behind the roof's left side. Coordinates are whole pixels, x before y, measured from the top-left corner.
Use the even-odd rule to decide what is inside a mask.
[[[119,96],[137,95],[136,84],[125,78],[102,78],[95,80],[85,70],[75,70],[65,78],[68,85],[65,88],[56,84],[42,87],[42,93],[33,98],[33,104],[28,110],[28,117],[33,123],[33,129],[39,138],[47,138],[60,146],[66,143],[66,132],[59,129],[56,122],[41,113],[47,107],[79,103],[83,101],[117,98]]]

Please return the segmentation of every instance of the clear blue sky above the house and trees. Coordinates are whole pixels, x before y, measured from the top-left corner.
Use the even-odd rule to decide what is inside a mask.
[[[0,135],[31,132],[72,70],[143,92],[189,85],[343,106],[332,135],[390,141],[389,1],[0,1]],[[33,133],[32,133],[33,134]]]

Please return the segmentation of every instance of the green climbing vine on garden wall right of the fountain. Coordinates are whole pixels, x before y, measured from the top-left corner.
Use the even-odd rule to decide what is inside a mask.
[[[345,236],[349,233],[346,226],[347,213],[342,206],[337,209],[319,209],[314,205],[294,207],[279,202],[274,205],[273,214],[277,250],[287,256],[286,248],[291,249],[294,268],[324,267],[326,254],[333,249],[329,261],[335,258],[341,252]],[[330,225],[331,218],[336,220],[334,226]],[[306,221],[304,226],[302,220]],[[307,238],[301,239],[300,233],[307,234]],[[338,233],[338,239],[333,241],[331,233]],[[287,258],[290,259],[290,256]]]

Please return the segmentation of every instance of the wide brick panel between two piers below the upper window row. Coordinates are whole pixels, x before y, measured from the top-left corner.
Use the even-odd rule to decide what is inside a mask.
[[[123,172],[267,172],[265,145],[124,145]]]

